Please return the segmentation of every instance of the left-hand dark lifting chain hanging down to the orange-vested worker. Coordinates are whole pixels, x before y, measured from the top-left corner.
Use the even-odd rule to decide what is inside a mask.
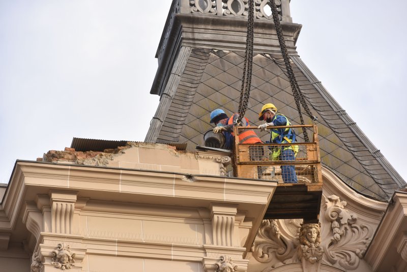
[[[243,116],[247,110],[247,104],[250,97],[251,88],[251,73],[253,67],[253,29],[254,29],[254,0],[249,1],[248,10],[248,20],[247,20],[247,36],[246,36],[246,51],[245,51],[245,62],[243,66],[243,77],[242,77],[242,90],[240,92],[239,101],[239,118],[236,121],[240,124]]]

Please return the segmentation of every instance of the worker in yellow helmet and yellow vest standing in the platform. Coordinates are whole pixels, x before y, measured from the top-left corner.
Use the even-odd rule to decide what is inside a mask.
[[[265,104],[260,113],[258,120],[264,120],[265,123],[258,126],[261,131],[266,131],[269,126],[289,126],[291,125],[288,118],[277,113],[277,108],[274,104]],[[275,144],[290,144],[296,142],[296,133],[293,128],[271,129],[270,143]],[[281,150],[282,149],[282,150]],[[296,160],[298,146],[287,145],[281,148],[280,146],[272,147],[272,160],[291,161]],[[298,183],[295,166],[281,166],[281,176],[285,183]]]

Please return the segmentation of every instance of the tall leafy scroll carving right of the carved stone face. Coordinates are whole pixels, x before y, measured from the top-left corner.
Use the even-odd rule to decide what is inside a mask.
[[[330,228],[323,229],[322,243],[325,251],[323,262],[346,270],[354,270],[359,266],[371,238],[370,228],[358,225],[357,215],[345,209],[346,202],[331,195],[325,199],[325,220]],[[330,237],[330,238],[329,238]]]

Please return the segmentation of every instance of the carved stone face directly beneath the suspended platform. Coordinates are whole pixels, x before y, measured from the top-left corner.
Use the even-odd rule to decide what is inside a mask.
[[[324,250],[321,244],[321,223],[303,224],[300,230],[300,246],[297,248],[298,257],[314,264],[322,260]]]

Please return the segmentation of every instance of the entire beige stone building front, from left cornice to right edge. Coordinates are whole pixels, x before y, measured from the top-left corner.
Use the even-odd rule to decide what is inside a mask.
[[[100,154],[114,156],[106,165],[64,156],[51,163],[17,162],[0,210],[4,271],[407,267],[403,192],[387,207],[324,168],[320,225],[262,220],[276,182],[224,176],[221,169],[230,160],[221,152],[129,143]]]

